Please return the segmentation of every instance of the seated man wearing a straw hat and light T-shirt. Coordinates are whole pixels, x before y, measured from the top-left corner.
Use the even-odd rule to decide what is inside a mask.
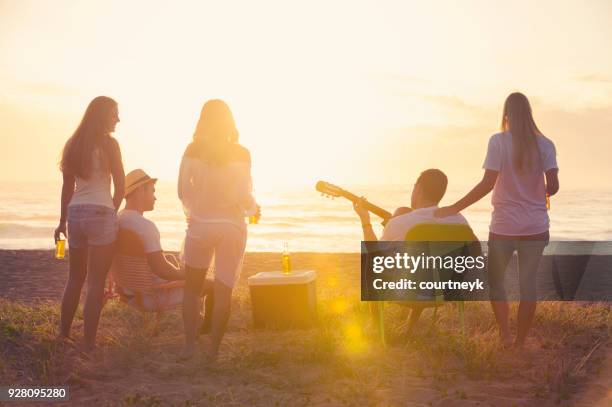
[[[159,230],[155,223],[143,216],[144,212],[155,207],[155,183],[157,178],[151,178],[141,169],[135,169],[125,176],[125,208],[119,213],[119,228],[136,234],[142,243],[146,254],[146,263],[150,272],[155,274],[153,280],[162,284],[174,280],[184,280],[185,272],[180,269],[176,258],[164,254],[161,247]],[[205,284],[203,294],[206,295],[206,312],[202,331],[210,329],[212,316],[212,283]],[[129,290],[128,290],[129,293]],[[175,306],[183,302],[183,286],[173,288],[167,295],[166,306]],[[152,298],[143,298],[145,303],[153,303]],[[153,307],[153,305],[152,305]]]

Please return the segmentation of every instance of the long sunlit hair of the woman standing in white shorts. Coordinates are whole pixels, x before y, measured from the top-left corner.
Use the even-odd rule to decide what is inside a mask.
[[[232,111],[224,101],[212,99],[202,106],[193,141],[187,146],[185,156],[211,164],[225,164],[237,142],[238,130]]]

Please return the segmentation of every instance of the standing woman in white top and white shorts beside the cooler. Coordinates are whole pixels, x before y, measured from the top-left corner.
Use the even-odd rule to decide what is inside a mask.
[[[199,293],[215,259],[212,349],[215,359],[230,316],[231,295],[246,246],[245,216],[259,213],[252,195],[251,156],[238,144],[232,112],[222,100],[210,100],[181,162],[178,196],[187,218],[183,245],[186,281],[183,299],[185,349],[195,350]]]

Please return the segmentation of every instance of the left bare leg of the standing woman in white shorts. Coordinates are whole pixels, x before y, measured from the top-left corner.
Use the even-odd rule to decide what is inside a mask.
[[[185,293],[183,295],[183,327],[185,329],[185,348],[182,358],[188,359],[195,351],[196,334],[200,318],[202,286],[206,269],[186,266]]]

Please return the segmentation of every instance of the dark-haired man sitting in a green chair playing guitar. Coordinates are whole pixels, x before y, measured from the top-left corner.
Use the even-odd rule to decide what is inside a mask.
[[[404,241],[407,233],[420,224],[458,224],[468,225],[467,220],[461,214],[448,216],[446,218],[437,218],[434,212],[438,209],[438,204],[446,193],[448,178],[438,169],[425,170],[417,178],[412,189],[410,197],[410,207],[399,207],[395,210],[393,217],[389,219],[383,229],[380,237],[381,241]],[[365,200],[365,198],[363,198]],[[353,208],[361,219],[361,227],[363,230],[364,241],[378,241],[372,223],[370,221],[370,213],[365,209],[364,205],[354,203]],[[473,235],[473,232],[472,232]],[[472,240],[477,241],[476,236]],[[421,312],[427,306],[426,301],[416,303],[410,302],[412,313],[408,325],[409,331],[412,331],[416,325]],[[375,317],[378,309],[374,305],[372,312]]]

